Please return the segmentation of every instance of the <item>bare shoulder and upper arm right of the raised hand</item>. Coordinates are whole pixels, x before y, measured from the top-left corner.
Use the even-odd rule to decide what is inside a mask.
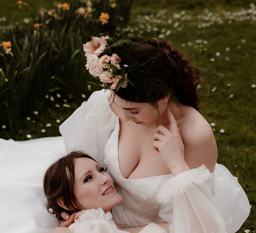
[[[210,124],[199,112],[190,110],[179,126],[188,166],[204,164],[212,171],[217,161],[217,144]]]

